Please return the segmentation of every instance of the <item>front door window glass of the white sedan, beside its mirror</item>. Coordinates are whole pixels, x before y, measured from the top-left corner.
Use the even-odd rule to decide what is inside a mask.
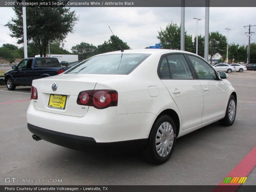
[[[204,60],[192,55],[188,55],[188,58],[191,60],[191,63],[196,69],[196,73],[199,79],[217,79],[214,69]]]

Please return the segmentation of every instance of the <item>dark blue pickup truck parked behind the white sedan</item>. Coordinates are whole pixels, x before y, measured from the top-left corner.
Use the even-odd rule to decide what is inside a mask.
[[[16,85],[31,86],[34,79],[54,76],[63,72],[64,69],[57,58],[26,58],[4,73],[4,81],[9,90],[14,90]]]

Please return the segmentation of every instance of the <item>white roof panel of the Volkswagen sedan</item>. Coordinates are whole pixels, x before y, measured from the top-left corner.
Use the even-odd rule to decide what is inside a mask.
[[[187,51],[171,50],[171,49],[129,49],[129,50],[124,50],[124,52],[113,51],[113,52],[102,53],[100,55],[118,54],[118,53],[144,53],[144,54],[188,53],[188,54],[196,55],[194,53],[187,52]]]

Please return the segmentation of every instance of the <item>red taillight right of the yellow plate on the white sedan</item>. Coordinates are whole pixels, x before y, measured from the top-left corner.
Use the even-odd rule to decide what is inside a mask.
[[[118,94],[115,90],[88,90],[78,94],[78,105],[93,106],[97,109],[117,106]]]

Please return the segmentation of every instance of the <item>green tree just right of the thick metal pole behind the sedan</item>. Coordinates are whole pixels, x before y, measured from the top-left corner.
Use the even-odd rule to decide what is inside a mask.
[[[225,54],[225,51],[227,52],[226,36],[220,34],[218,31],[211,32],[209,35],[209,55],[211,63],[214,55],[217,53],[223,55]]]

